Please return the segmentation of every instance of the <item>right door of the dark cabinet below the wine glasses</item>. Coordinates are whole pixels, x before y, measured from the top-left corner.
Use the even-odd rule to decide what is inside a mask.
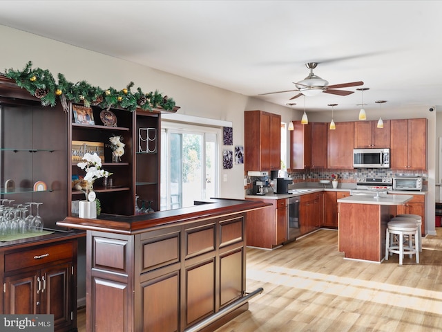
[[[73,283],[72,264],[60,264],[41,270],[40,311],[54,315],[55,330],[72,324],[71,299],[76,285]],[[76,305],[76,304],[74,304]],[[76,316],[75,316],[76,317]],[[73,317],[74,318],[74,317]]]

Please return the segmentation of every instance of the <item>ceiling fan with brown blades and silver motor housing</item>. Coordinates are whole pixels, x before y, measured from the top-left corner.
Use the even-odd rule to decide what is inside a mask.
[[[358,85],[364,84],[364,82],[359,81],[359,82],[350,82],[350,83],[329,85],[329,82],[327,82],[326,80],[323,80],[321,77],[319,77],[313,73],[314,68],[316,68],[316,66],[318,66],[318,62],[309,62],[309,63],[305,64],[305,66],[307,66],[307,68],[310,69],[310,74],[307,77],[305,77],[304,80],[302,80],[300,82],[296,82],[296,83],[294,82],[294,84],[296,85],[295,90],[261,93],[260,95],[271,95],[272,93],[298,91],[299,93],[297,95],[294,95],[294,97],[290,98],[290,100],[298,98],[301,95],[306,95],[308,97],[318,95],[321,92],[332,93],[333,95],[350,95],[350,94],[354,93],[354,91],[336,90],[336,89],[348,88],[349,86],[358,86]]]

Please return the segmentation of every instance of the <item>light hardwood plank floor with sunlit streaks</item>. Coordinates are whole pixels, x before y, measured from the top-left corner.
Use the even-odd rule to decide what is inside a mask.
[[[276,250],[247,248],[247,291],[264,288],[216,332],[441,331],[442,228],[421,263],[343,259],[338,232],[319,230]],[[82,322],[82,324],[81,324]],[[79,311],[84,332],[84,309]]]

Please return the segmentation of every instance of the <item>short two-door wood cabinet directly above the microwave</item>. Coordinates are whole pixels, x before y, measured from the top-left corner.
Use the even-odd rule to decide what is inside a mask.
[[[384,127],[378,128],[378,121],[354,122],[354,148],[390,147],[390,120],[384,120]]]

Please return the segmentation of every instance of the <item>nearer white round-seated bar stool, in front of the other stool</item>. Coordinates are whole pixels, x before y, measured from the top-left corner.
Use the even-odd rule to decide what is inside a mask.
[[[398,241],[392,243],[390,246],[390,237],[392,235],[398,235]],[[403,240],[404,236],[408,236],[408,246],[404,248]],[[413,236],[414,236],[414,246],[413,246]],[[389,223],[387,223],[387,231],[385,234],[385,260],[388,260],[389,254],[399,255],[399,265],[403,263],[403,256],[416,255],[416,264],[419,264],[419,234],[418,227],[416,225],[416,219],[396,217],[392,218]],[[416,249],[418,248],[418,249]]]

